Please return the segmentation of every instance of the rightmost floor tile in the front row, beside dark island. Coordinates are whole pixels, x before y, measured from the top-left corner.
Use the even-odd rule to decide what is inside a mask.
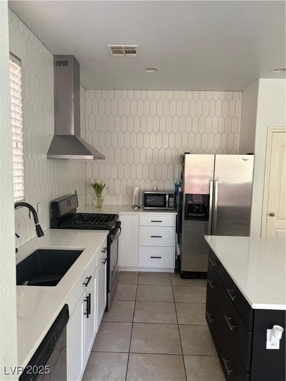
[[[225,381],[218,357],[184,356],[188,381]]]

